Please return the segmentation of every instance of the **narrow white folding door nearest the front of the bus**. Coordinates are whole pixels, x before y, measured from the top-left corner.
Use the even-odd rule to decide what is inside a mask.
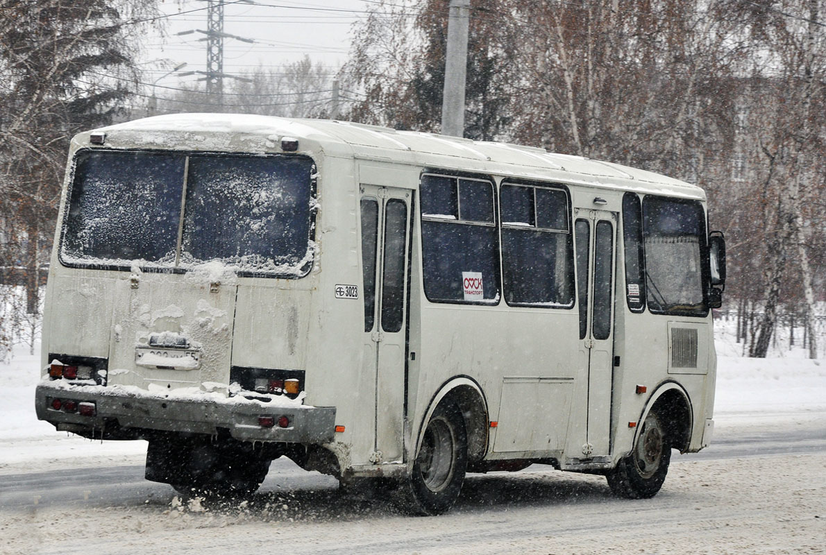
[[[585,458],[610,454],[614,360],[615,212],[576,211],[580,352],[587,366]]]

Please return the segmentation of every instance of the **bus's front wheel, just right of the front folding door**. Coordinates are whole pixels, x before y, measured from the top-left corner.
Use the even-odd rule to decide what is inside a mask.
[[[648,499],[660,491],[671,462],[671,442],[662,418],[652,409],[645,417],[634,449],[607,474],[615,496]]]

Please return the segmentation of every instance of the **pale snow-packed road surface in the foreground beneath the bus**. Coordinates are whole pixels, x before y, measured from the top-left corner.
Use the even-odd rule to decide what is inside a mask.
[[[824,553],[826,538],[822,452],[679,458],[662,491],[639,501],[610,496],[601,477],[544,467],[475,475],[453,511],[432,518],[289,476],[249,504],[178,505],[171,488],[126,468],[127,483],[107,472],[86,492],[48,481],[75,499],[0,511],[0,553]]]

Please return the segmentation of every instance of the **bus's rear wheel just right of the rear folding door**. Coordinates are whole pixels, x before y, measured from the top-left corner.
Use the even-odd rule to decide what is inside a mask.
[[[468,466],[468,434],[453,402],[439,404],[427,423],[411,477],[397,491],[411,515],[440,515],[456,502]]]

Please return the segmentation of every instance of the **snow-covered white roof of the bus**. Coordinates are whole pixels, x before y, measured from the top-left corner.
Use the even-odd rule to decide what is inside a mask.
[[[128,121],[91,133],[106,133],[105,146],[110,148],[253,153],[281,152],[281,140],[288,137],[297,139],[298,152],[306,154],[320,151],[327,156],[705,199],[705,192],[691,183],[620,164],[349,121],[182,113]],[[89,145],[88,135],[75,137],[78,146]]]

